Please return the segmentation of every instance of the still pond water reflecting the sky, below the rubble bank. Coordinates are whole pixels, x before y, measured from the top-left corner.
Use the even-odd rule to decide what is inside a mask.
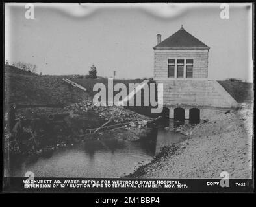
[[[58,149],[49,158],[20,160],[10,168],[10,177],[121,177],[133,173],[139,164],[150,162],[162,146],[185,140],[185,136],[164,129],[154,129],[138,141],[86,140],[75,146]]]

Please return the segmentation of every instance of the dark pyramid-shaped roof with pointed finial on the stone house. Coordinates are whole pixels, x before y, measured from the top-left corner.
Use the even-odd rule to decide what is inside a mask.
[[[154,49],[210,49],[207,45],[199,41],[199,39],[186,32],[181,25],[180,30],[172,34],[164,41],[153,47]]]

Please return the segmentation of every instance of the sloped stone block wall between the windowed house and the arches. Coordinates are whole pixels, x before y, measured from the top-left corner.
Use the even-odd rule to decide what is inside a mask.
[[[214,80],[156,80],[164,84],[164,106],[188,105],[199,108],[238,107],[235,99]]]

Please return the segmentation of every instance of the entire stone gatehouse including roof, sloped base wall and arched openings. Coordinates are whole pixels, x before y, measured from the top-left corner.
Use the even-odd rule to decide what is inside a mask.
[[[169,117],[185,119],[196,114],[207,119],[213,113],[235,109],[238,103],[216,80],[208,80],[209,49],[181,28],[164,41],[157,34],[154,80],[164,85],[164,107]],[[184,118],[183,118],[184,119]]]

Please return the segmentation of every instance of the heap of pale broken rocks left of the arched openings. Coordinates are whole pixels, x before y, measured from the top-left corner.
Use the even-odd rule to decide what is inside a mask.
[[[114,106],[96,106],[92,100],[84,100],[80,103],[74,103],[66,107],[66,110],[73,111],[73,113],[95,113],[103,120],[109,120],[112,117],[112,121],[115,124],[124,122],[141,122],[142,120],[150,120],[147,116],[135,113],[122,107]]]

